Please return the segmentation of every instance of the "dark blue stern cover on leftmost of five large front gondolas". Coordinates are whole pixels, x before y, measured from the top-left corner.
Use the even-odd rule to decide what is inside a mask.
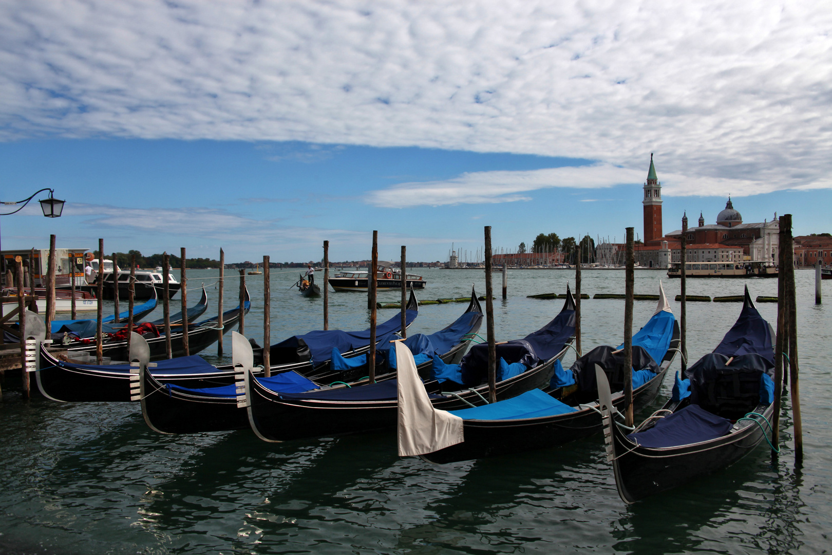
[[[416,310],[405,310],[405,312],[406,322],[409,325],[416,320],[418,312]],[[376,326],[376,341],[386,344],[390,339],[394,339],[394,334],[401,327],[401,321],[401,315],[397,314],[384,324]],[[320,364],[329,360],[332,349],[338,349],[339,353],[348,353],[369,345],[369,329],[364,331],[315,330],[308,334],[293,335],[289,339],[272,345],[271,348],[296,349],[302,344],[301,341],[309,346],[313,364]]]

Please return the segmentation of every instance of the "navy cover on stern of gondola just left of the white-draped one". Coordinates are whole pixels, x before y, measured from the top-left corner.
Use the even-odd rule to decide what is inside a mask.
[[[575,334],[575,310],[570,300],[554,320],[522,339],[497,345],[498,359],[508,364],[522,363],[534,368],[540,362],[560,353]],[[462,359],[462,379],[465,385],[478,385],[488,372],[488,344],[473,345]]]

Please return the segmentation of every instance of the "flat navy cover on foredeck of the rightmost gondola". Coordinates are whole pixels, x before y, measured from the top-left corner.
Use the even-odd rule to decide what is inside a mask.
[[[699,405],[689,404],[655,426],[627,439],[646,448],[676,447],[721,438],[731,429],[730,420],[711,414]]]

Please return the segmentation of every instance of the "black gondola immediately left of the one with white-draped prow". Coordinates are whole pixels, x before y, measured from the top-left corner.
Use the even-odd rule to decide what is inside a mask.
[[[567,301],[554,320],[523,339],[498,345],[498,357],[505,363],[497,384],[498,399],[547,384],[574,331],[575,304],[567,289]],[[438,409],[461,409],[484,402],[487,373],[488,348],[477,344],[461,364],[443,364],[434,357],[431,379],[424,386]],[[399,404],[396,388],[396,379],[386,379],[349,389],[290,394],[276,393],[249,379],[245,394],[255,434],[265,441],[284,441],[393,428]]]

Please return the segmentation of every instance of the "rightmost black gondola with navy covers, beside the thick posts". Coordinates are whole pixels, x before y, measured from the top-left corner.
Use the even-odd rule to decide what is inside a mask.
[[[625,503],[716,472],[769,440],[773,334],[746,287],[740,317],[725,338],[685,379],[676,376],[671,400],[634,432],[622,429],[607,409],[610,400],[601,399],[607,459]]]

